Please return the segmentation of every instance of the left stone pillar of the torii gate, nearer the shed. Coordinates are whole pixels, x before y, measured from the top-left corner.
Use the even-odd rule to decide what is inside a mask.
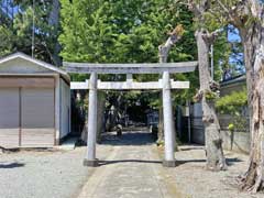
[[[89,80],[89,107],[88,107],[88,135],[87,155],[85,166],[98,166],[96,160],[96,135],[97,135],[97,73],[91,73]]]

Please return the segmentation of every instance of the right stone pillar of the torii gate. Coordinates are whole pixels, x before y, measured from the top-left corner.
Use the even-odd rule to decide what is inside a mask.
[[[165,155],[163,166],[175,167],[176,161],[175,151],[175,127],[173,117],[173,103],[170,95],[170,78],[169,73],[163,73],[163,119],[164,119],[164,139],[165,139]]]

